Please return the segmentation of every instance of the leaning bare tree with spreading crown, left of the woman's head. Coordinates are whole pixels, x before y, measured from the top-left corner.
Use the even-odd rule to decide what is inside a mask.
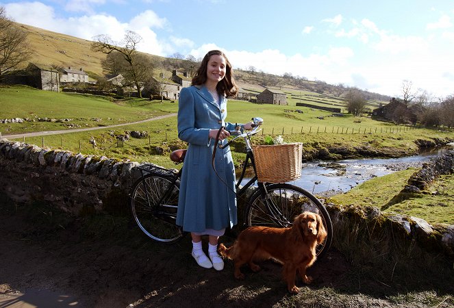
[[[136,86],[138,97],[142,98],[141,86],[144,81],[143,75],[146,75],[144,72],[147,70],[144,63],[140,61],[143,60],[143,57],[137,51],[137,44],[142,40],[142,37],[136,32],[128,30],[123,41],[119,43],[114,42],[110,36],[105,34],[94,36],[93,40],[92,50],[107,54],[116,51],[123,55],[123,59],[129,64],[129,69],[125,72],[127,76],[123,77],[131,79]]]

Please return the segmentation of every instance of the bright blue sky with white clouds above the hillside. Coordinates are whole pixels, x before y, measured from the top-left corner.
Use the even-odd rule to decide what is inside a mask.
[[[199,59],[225,52],[235,68],[343,84],[391,97],[403,84],[454,94],[453,0],[3,1],[18,23],[92,40],[125,31],[138,49]]]

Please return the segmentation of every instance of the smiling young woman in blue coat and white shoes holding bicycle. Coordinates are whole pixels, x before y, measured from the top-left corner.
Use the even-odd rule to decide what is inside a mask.
[[[226,123],[227,97],[238,92],[231,64],[222,51],[209,51],[192,78],[192,86],[183,88],[179,97],[178,137],[188,142],[181,175],[177,224],[189,231],[192,257],[203,268],[222,270],[223,259],[217,253],[218,238],[226,227],[237,223],[235,168],[229,147],[217,149],[212,168],[214,140],[218,129],[221,144],[227,143],[236,124]],[[251,123],[242,125],[251,129]],[[225,183],[224,183],[225,182]],[[227,185],[226,185],[227,183]],[[201,235],[208,235],[208,257],[203,253]]]

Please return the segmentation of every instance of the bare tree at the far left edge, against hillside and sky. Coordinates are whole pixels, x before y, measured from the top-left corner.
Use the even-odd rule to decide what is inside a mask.
[[[27,33],[17,27],[0,6],[0,75],[25,62],[31,53]]]

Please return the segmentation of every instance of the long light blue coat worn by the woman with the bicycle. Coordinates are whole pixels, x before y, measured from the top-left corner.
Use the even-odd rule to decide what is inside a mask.
[[[210,129],[224,125],[233,130],[236,125],[225,123],[227,99],[220,97],[220,107],[205,86],[191,86],[180,92],[178,107],[178,137],[188,142],[179,190],[177,224],[184,231],[221,230],[237,223],[235,167],[230,149],[217,149],[212,168],[214,140]],[[223,144],[227,140],[222,141]]]

